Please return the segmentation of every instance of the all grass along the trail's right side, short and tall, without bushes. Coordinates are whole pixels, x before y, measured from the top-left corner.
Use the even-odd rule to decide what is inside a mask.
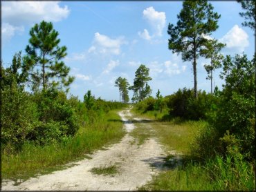
[[[170,158],[166,158],[165,165],[174,160],[177,154],[181,154],[182,158],[181,165],[170,164],[170,170],[154,175],[138,191],[255,191],[255,168],[244,162],[242,157],[224,159],[217,156],[203,162],[190,153],[196,137],[208,126],[207,122],[168,119],[165,113],[156,119],[154,111],[133,112],[138,117],[152,119],[149,124],[161,144],[167,151],[174,152],[174,155],[168,155]]]

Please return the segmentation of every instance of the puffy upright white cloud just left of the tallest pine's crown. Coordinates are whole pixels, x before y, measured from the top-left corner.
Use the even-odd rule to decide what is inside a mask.
[[[151,40],[152,37],[161,37],[163,34],[163,28],[165,28],[166,16],[165,12],[158,12],[153,7],[146,8],[143,10],[143,17],[152,27],[153,35],[150,36],[148,30],[138,32],[138,35],[143,39]]]

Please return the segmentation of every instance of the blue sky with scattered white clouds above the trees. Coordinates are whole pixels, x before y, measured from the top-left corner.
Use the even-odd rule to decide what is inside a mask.
[[[254,32],[241,23],[243,12],[237,1],[209,1],[221,15],[219,28],[210,37],[226,44],[223,55],[255,52]],[[125,77],[133,84],[140,64],[149,68],[152,96],[170,95],[179,88],[193,88],[192,63],[168,49],[168,23],[176,25],[182,1],[1,1],[1,61],[10,66],[15,52],[28,45],[30,28],[42,20],[51,21],[59,32],[60,46],[67,47],[64,58],[75,77],[70,93],[83,99],[87,90],[96,98],[119,100],[114,81]],[[210,92],[210,81],[203,67],[209,59],[197,63],[198,89]],[[223,80],[218,69],[214,86]],[[133,95],[129,91],[129,97]]]

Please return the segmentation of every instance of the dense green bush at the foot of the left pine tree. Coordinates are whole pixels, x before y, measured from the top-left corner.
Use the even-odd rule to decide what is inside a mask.
[[[35,93],[39,122],[29,140],[46,144],[59,137],[75,135],[79,128],[75,110],[63,92],[55,89]],[[55,139],[54,139],[55,138]]]

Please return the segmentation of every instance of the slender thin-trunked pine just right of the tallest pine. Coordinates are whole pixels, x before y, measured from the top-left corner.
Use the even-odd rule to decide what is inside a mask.
[[[226,46],[217,41],[217,39],[210,39],[205,43],[205,46],[201,48],[200,52],[206,59],[210,59],[210,65],[205,64],[205,70],[208,73],[206,79],[210,79],[210,93],[212,93],[212,73],[215,69],[221,67],[221,61],[223,55],[219,54],[221,48]]]

